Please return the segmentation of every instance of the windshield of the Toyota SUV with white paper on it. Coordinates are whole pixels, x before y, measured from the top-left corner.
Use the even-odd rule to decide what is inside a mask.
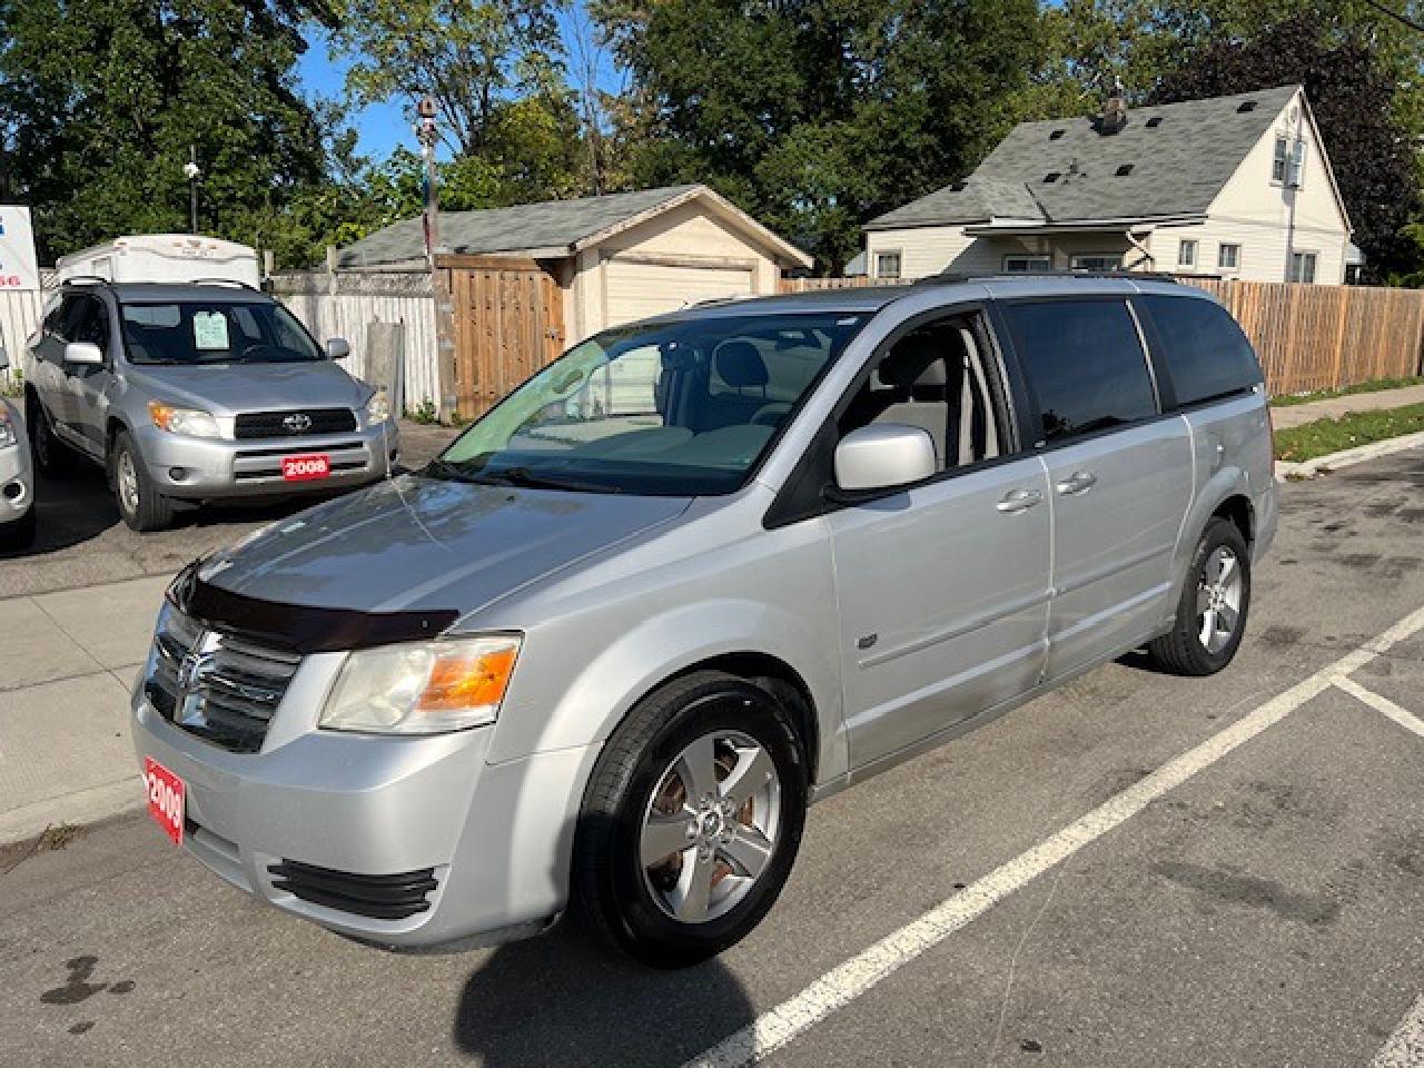
[[[326,355],[273,300],[122,305],[130,363],[293,363]]]

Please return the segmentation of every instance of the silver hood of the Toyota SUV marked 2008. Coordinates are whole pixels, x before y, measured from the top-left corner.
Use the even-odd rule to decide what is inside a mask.
[[[329,360],[309,363],[130,365],[150,396],[215,416],[273,409],[365,406],[370,387]]]

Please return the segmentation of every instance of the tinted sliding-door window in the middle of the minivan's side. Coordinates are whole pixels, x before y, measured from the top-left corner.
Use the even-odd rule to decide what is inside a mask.
[[[1122,300],[1005,305],[1041,440],[1091,434],[1156,414],[1136,323]]]

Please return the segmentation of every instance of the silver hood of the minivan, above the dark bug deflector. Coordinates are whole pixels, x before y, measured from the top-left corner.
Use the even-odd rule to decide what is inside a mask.
[[[208,560],[201,575],[281,604],[464,615],[678,517],[691,500],[406,474],[279,520]]]

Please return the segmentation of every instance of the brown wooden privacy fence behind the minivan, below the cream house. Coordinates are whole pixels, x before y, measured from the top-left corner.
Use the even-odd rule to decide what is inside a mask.
[[[1235,282],[1179,276],[1213,293],[1260,355],[1270,393],[1340,389],[1424,373],[1424,290]],[[783,293],[887,285],[869,278],[783,278]]]

